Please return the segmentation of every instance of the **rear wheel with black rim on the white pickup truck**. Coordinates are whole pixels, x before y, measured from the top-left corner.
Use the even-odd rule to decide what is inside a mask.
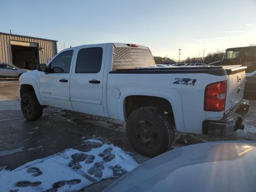
[[[142,107],[128,117],[126,134],[140,154],[154,157],[166,152],[174,142],[174,128],[166,115],[156,107]]]

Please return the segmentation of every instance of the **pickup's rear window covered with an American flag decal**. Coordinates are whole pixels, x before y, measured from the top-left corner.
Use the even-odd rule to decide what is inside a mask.
[[[112,70],[155,66],[150,50],[138,48],[114,48]]]

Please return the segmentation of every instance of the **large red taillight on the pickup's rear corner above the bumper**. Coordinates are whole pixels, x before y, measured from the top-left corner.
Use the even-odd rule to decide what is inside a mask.
[[[226,104],[227,81],[212,83],[204,92],[205,111],[224,111]]]

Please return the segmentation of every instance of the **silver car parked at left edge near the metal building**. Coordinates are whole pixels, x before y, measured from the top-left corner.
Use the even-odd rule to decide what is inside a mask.
[[[29,71],[12,64],[0,63],[0,78],[20,78],[21,74]]]

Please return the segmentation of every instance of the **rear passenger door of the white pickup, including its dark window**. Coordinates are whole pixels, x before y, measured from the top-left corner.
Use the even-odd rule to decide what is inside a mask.
[[[81,46],[76,50],[70,78],[70,100],[74,111],[105,116],[103,72],[106,45]]]

